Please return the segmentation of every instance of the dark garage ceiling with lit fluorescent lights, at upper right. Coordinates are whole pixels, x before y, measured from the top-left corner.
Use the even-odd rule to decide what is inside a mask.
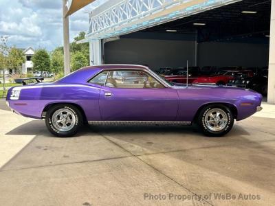
[[[176,30],[179,33],[198,33],[199,42],[244,40],[267,42],[270,34],[271,1],[243,0],[225,5],[214,10],[208,10],[183,19],[170,21],[162,25],[150,27],[142,32],[166,32]],[[256,14],[243,14],[243,11],[254,11]],[[205,23],[198,26],[193,23]],[[248,40],[247,38],[250,38]],[[255,38],[263,38],[256,40]]]

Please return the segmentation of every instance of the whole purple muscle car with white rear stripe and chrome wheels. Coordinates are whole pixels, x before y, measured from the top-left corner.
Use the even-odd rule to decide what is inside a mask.
[[[52,83],[12,87],[7,104],[25,117],[45,119],[58,137],[83,124],[197,124],[208,136],[228,133],[234,119],[261,110],[248,89],[166,82],[138,65],[85,67]]]

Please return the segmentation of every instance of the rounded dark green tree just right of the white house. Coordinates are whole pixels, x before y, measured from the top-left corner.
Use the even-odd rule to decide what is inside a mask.
[[[51,71],[50,56],[45,49],[38,49],[32,56],[34,71]]]

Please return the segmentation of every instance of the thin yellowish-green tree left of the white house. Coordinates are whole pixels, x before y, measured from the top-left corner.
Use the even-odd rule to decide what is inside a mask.
[[[24,54],[21,49],[17,49],[17,47],[10,48],[8,54],[8,69],[14,69],[16,73],[21,71],[20,69],[24,60]]]

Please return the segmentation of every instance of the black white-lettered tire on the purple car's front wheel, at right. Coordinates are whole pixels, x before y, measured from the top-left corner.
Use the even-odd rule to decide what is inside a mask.
[[[206,118],[212,118],[208,116],[208,112],[211,113],[211,111],[223,111],[223,114],[221,113],[221,116],[225,115],[225,118],[228,119],[226,124],[221,126],[221,130],[214,130],[214,127],[211,127],[206,124]],[[216,113],[217,116],[217,113]],[[217,120],[217,119],[216,119]],[[214,121],[214,120],[213,120]],[[197,124],[199,128],[203,131],[203,133],[208,136],[208,137],[222,137],[223,135],[226,135],[227,133],[230,132],[232,129],[232,126],[234,124],[234,116],[232,114],[232,111],[230,111],[230,108],[227,106],[224,106],[222,104],[212,104],[205,106],[201,109],[199,116],[197,117]],[[211,130],[212,128],[213,130]]]

